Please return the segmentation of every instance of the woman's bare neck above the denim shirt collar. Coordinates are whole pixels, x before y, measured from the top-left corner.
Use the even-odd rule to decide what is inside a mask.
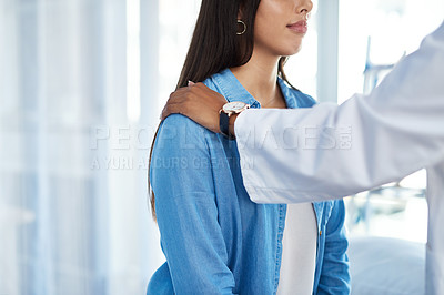
[[[284,104],[276,83],[278,62],[279,58],[260,58],[253,52],[248,63],[231,69],[234,77],[263,108],[280,108]]]

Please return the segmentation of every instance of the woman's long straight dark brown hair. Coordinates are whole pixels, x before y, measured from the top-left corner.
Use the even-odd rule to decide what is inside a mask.
[[[188,81],[202,82],[223,69],[243,65],[251,59],[254,47],[254,20],[260,2],[261,0],[202,0],[176,90],[186,87]],[[246,24],[243,34],[236,34],[243,31],[243,26],[240,27],[238,23],[239,12],[241,20]],[[286,57],[280,59],[278,74],[291,85],[283,71],[286,59]],[[150,165],[157,134],[158,132],[151,145]],[[148,173],[151,212],[155,221],[150,167]]]

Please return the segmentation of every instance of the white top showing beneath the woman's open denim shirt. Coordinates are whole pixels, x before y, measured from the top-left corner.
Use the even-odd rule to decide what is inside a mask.
[[[289,204],[278,295],[313,293],[317,223],[311,203]]]

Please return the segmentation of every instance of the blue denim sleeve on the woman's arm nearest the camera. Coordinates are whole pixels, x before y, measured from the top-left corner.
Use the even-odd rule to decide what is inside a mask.
[[[161,245],[175,294],[232,294],[218,222],[209,131],[180,114],[162,123],[151,159]]]

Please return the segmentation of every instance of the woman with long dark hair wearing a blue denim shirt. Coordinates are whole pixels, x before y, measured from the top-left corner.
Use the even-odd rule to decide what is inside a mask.
[[[283,72],[311,9],[310,0],[203,0],[178,88],[203,81],[251,108],[312,106]],[[148,294],[349,294],[342,201],[251,202],[235,141],[178,114],[161,123],[150,163],[167,263]]]

